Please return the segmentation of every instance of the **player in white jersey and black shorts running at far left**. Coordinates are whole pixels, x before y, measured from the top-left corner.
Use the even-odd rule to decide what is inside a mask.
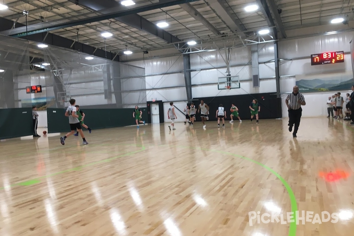
[[[60,137],[60,143],[62,145],[64,145],[65,139],[68,136],[74,134],[76,130],[78,130],[81,135],[81,138],[82,138],[82,144],[89,144],[89,143],[87,143],[84,133],[82,132],[80,121],[78,119],[79,116],[76,115],[76,107],[75,107],[76,100],[72,98],[69,100],[69,103],[70,103],[70,106],[66,110],[65,116],[69,117],[69,124],[70,124],[71,132],[67,133],[64,137]]]

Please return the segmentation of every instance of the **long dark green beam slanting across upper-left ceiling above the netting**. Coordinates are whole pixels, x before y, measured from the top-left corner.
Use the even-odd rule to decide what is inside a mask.
[[[122,16],[128,16],[144,11],[151,11],[163,7],[168,7],[168,6],[175,6],[179,4],[184,4],[188,2],[194,2],[198,0],[169,0],[169,1],[164,1],[162,3],[154,3],[154,4],[149,4],[149,5],[139,5],[137,7],[124,7],[124,6],[119,6],[118,8],[111,8],[110,13],[105,13],[102,15],[95,15],[95,16],[90,16],[87,17],[88,14],[81,14],[77,15],[75,17],[69,17],[66,19],[63,19],[61,21],[55,21],[55,22],[44,22],[44,23],[38,23],[38,24],[33,24],[29,25],[28,31],[26,32],[26,27],[20,27],[16,29],[11,29],[11,30],[5,30],[0,32],[0,34],[8,35],[8,36],[13,36],[13,37],[22,37],[25,36],[27,33],[28,35],[32,34],[38,34],[42,32],[47,32],[47,31],[52,31],[52,30],[57,30],[57,29],[63,29],[67,27],[75,27],[77,25],[82,25],[82,24],[89,24],[93,22],[98,22],[98,21],[104,21],[107,19],[112,19],[116,17],[122,17]],[[91,13],[92,14],[92,13]],[[82,19],[78,19],[80,17],[83,17]]]

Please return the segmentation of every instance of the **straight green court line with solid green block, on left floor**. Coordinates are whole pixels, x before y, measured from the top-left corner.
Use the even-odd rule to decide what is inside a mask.
[[[128,146],[131,146],[131,145],[135,145],[135,144],[118,144],[118,145],[128,145]],[[118,155],[118,156],[114,156],[114,157],[109,157],[107,159],[103,159],[103,160],[99,160],[99,161],[95,161],[95,162],[91,162],[91,163],[88,163],[86,165],[82,165],[82,166],[78,166],[78,167],[74,167],[74,168],[70,168],[70,169],[66,169],[64,171],[58,171],[58,172],[55,172],[55,173],[52,173],[52,174],[47,174],[47,175],[43,175],[41,177],[38,177],[38,178],[34,178],[34,179],[29,179],[29,180],[26,180],[26,181],[23,181],[23,182],[19,182],[19,183],[15,183],[15,184],[10,184],[11,187],[13,186],[29,186],[29,185],[34,185],[34,184],[38,184],[41,182],[40,179],[44,179],[44,178],[47,178],[47,177],[52,177],[52,176],[55,176],[55,175],[58,175],[58,174],[63,174],[63,173],[66,173],[66,172],[71,172],[71,171],[80,171],[82,168],[85,168],[85,167],[88,167],[88,166],[93,166],[93,165],[97,165],[99,163],[104,163],[104,162],[110,162],[110,161],[113,161],[115,159],[118,159],[120,157],[123,157],[123,156],[130,156],[132,154],[135,154],[135,153],[138,153],[138,152],[142,152],[145,150],[145,147],[144,146],[141,146],[141,149],[140,150],[137,150],[137,151],[131,151],[131,152],[127,152],[125,154],[121,154],[121,155]],[[1,187],[1,189],[4,189],[5,187]]]

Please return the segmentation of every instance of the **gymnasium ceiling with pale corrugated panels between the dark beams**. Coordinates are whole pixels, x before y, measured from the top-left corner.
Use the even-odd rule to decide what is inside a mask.
[[[116,6],[118,10],[124,10],[159,2],[159,0],[133,1],[135,5],[126,7],[118,0],[0,0],[0,4],[8,7],[0,11],[0,17],[26,24],[23,11],[27,11],[27,24],[31,26],[66,18],[74,20],[104,15],[109,11],[104,10],[105,6]],[[169,1],[173,0],[160,0],[160,2]],[[79,2],[79,5],[75,2]],[[257,4],[258,10],[246,12],[244,8],[252,4]],[[101,7],[98,9],[101,11],[93,10],[92,8],[95,7],[96,9]],[[337,17],[344,18],[344,23],[348,24],[349,21],[353,21],[353,7],[354,0],[202,0],[138,12],[133,16],[135,19],[140,16],[142,18],[139,19],[146,19],[154,26],[158,22],[166,21],[169,26],[164,30],[176,37],[172,44],[161,36],[139,30],[130,21],[126,19],[120,21],[119,18],[68,26],[51,30],[50,33],[95,48],[106,47],[107,51],[121,54],[125,50],[142,52],[170,48],[174,47],[176,42],[182,45],[182,41],[190,40],[195,40],[198,45],[223,40],[225,37],[251,39],[250,42],[271,40],[272,29],[278,31],[278,38],[281,39],[286,37],[287,30],[330,24],[331,19]],[[200,18],[195,19],[195,15],[204,17],[205,21]],[[257,32],[261,29],[270,29],[269,36],[258,37]],[[101,36],[103,31],[109,31],[113,36],[104,42]]]

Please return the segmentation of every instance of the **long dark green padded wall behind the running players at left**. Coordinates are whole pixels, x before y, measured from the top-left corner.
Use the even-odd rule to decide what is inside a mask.
[[[147,122],[147,108],[140,108],[142,120]],[[133,108],[120,109],[82,109],[85,113],[85,125],[92,129],[104,129],[135,125]],[[65,116],[66,109],[47,108],[48,133],[65,133],[70,131],[69,118]],[[85,131],[85,128],[84,128]]]

